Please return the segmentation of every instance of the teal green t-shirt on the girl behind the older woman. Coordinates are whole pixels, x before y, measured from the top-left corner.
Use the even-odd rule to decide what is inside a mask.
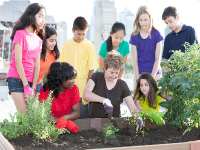
[[[129,50],[129,43],[126,42],[126,41],[122,41],[120,44],[119,44],[119,47],[117,49],[117,52],[120,53],[122,55],[122,57],[125,57],[126,55],[128,55],[130,53],[130,50]],[[100,48],[100,51],[99,51],[99,56],[105,58],[108,54],[108,51],[107,51],[107,43],[104,42],[103,44],[101,44],[101,48]],[[95,72],[99,72],[99,68],[97,68],[95,70]]]

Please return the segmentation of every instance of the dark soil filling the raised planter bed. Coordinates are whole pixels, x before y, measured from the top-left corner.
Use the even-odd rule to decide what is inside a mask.
[[[193,128],[182,136],[184,130],[172,125],[164,125],[157,129],[150,129],[145,135],[130,134],[127,129],[121,129],[116,139],[105,138],[102,132],[95,129],[78,132],[77,134],[63,134],[55,142],[34,142],[31,136],[20,136],[10,141],[16,150],[74,150],[110,148],[152,144],[178,143],[200,140],[200,128]]]

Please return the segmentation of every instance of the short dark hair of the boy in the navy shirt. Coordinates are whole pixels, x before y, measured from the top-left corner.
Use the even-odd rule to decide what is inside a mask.
[[[169,6],[164,9],[163,14],[162,14],[162,20],[166,20],[167,17],[170,17],[170,16],[172,16],[176,19],[178,14],[179,13],[178,13],[176,7]]]

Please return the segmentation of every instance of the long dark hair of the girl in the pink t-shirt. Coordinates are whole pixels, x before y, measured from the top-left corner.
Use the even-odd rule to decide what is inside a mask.
[[[33,30],[38,30],[37,26],[36,26],[36,19],[35,19],[35,15],[41,10],[41,9],[45,9],[44,6],[40,5],[39,3],[33,3],[31,5],[29,5],[25,12],[22,14],[22,16],[17,20],[17,22],[15,23],[15,26],[13,27],[13,32],[12,35],[10,37],[10,39],[13,41],[13,38],[15,36],[15,33],[17,30],[23,30],[26,27],[28,27],[29,25],[31,25],[33,27]],[[45,25],[44,25],[45,26]],[[44,30],[44,26],[42,27],[42,29],[38,30],[37,34],[38,36],[43,39],[44,35],[45,35],[45,30]]]

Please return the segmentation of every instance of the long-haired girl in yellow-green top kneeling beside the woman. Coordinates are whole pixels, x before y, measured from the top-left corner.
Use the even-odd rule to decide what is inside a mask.
[[[158,85],[151,74],[142,73],[133,96],[137,108],[143,112],[150,110],[160,111],[159,103],[166,100],[163,98],[162,93],[156,94],[158,90]]]

